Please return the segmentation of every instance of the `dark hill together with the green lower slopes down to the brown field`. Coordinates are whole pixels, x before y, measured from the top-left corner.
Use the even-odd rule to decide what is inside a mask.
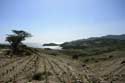
[[[119,38],[118,38],[119,37]],[[125,40],[121,36],[103,36],[88,39],[81,39],[61,44],[63,53],[70,56],[93,56],[100,55],[115,50],[125,49]]]

